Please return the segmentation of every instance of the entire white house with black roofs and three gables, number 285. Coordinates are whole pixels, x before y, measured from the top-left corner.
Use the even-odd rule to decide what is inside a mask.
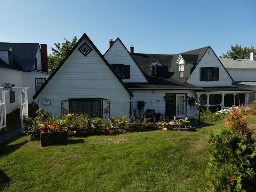
[[[232,77],[210,46],[179,54],[130,52],[117,38],[102,55],[84,34],[46,83],[34,95],[39,106],[60,116],[88,113],[129,116],[144,100],[145,112],[173,118],[193,118],[196,106],[188,100],[200,96],[212,111],[246,104],[250,90],[232,86]]]

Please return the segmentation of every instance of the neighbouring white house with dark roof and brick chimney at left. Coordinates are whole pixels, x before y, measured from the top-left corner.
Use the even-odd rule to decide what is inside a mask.
[[[11,83],[28,89],[28,103],[50,76],[47,64],[47,45],[38,43],[0,42],[0,86]],[[2,94],[0,94],[2,100]],[[14,91],[5,96],[6,113],[19,108],[19,97]]]

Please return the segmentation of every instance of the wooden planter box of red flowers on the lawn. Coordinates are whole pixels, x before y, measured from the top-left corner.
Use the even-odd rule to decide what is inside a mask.
[[[49,125],[39,124],[38,126],[41,127],[40,138],[42,147],[68,143],[67,129],[61,128],[59,121]]]

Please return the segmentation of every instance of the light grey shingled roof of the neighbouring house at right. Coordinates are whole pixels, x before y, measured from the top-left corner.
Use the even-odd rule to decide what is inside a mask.
[[[256,69],[256,60],[220,58],[225,68]]]

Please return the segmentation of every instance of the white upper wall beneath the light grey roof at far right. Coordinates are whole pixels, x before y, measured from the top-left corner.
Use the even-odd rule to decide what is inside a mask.
[[[227,68],[234,81],[256,81],[256,69]]]

